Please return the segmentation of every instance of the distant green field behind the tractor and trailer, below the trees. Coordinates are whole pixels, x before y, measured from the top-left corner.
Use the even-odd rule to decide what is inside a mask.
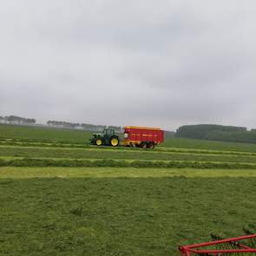
[[[56,128],[40,128],[40,127],[22,127],[12,125],[0,125],[0,138],[2,139],[20,139],[24,141],[68,141],[72,143],[88,143],[92,133]],[[221,141],[204,141],[181,139],[168,137],[161,147],[171,148],[189,148],[189,149],[211,149],[211,150],[226,150],[226,151],[242,151],[255,152],[256,144],[221,142]]]

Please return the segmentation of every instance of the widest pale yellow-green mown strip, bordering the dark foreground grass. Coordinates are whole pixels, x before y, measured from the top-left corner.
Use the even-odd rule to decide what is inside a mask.
[[[256,178],[255,170],[195,168],[135,168],[135,167],[0,167],[0,179],[30,178]],[[0,183],[1,184],[1,183]]]

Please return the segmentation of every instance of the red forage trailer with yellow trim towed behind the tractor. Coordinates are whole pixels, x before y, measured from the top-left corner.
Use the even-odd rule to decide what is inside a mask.
[[[124,128],[124,146],[139,148],[154,148],[164,141],[164,131],[161,128],[134,127]]]

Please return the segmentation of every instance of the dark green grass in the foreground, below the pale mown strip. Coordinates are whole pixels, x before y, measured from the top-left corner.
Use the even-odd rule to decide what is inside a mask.
[[[179,245],[212,232],[237,236],[256,223],[255,184],[255,177],[1,179],[0,255],[180,255]]]

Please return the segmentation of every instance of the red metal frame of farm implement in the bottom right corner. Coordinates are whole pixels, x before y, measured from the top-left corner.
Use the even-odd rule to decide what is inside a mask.
[[[256,239],[256,234],[241,236],[238,238],[231,238],[226,240],[216,240],[207,243],[200,243],[190,246],[180,246],[179,249],[182,256],[192,255],[211,255],[211,256],[224,256],[224,255],[256,255],[256,248],[243,244],[246,240],[250,241]],[[216,246],[232,245],[232,248],[218,249]],[[215,247],[214,247],[215,246]],[[253,254],[252,254],[253,253]]]

